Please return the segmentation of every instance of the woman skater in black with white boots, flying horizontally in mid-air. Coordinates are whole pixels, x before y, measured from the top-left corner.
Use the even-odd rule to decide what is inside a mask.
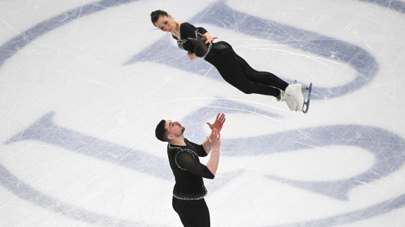
[[[277,101],[287,103],[291,111],[302,111],[304,95],[300,83],[289,85],[274,74],[252,69],[229,43],[213,43],[217,37],[212,37],[203,27],[177,22],[165,11],[153,11],[150,20],[163,32],[171,32],[179,48],[188,51],[190,60],[201,57],[210,62],[226,82],[245,94],[272,95]]]

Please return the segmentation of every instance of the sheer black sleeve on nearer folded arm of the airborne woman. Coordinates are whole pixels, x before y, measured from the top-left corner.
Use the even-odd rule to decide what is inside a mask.
[[[202,32],[207,32],[207,30],[203,28],[199,28]],[[207,44],[205,44],[204,36],[199,32],[199,30],[187,22],[181,24],[180,27],[181,32],[181,39],[188,39],[191,43],[193,43],[194,53],[197,57],[203,57],[205,53],[208,51]]]

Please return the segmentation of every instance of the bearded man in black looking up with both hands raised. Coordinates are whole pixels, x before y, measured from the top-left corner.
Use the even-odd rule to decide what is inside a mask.
[[[195,144],[184,138],[185,128],[177,121],[162,120],[156,126],[155,135],[167,144],[167,156],[176,184],[173,189],[172,205],[179,214],[181,223],[188,226],[210,226],[210,212],[204,196],[207,189],[204,178],[214,179],[219,163],[220,131],[225,122],[225,115],[218,114],[211,128],[210,136],[203,144]],[[207,165],[200,163],[200,157],[211,153]]]

